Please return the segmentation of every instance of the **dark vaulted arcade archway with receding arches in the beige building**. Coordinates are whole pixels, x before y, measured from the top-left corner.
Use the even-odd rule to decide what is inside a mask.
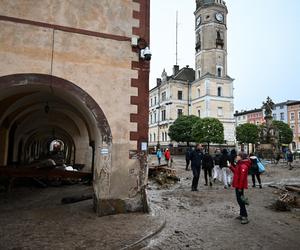
[[[99,192],[105,195],[108,176],[102,172],[111,165],[111,140],[103,111],[74,83],[43,74],[0,77],[0,166],[22,166],[60,153],[65,163],[81,164],[96,175],[99,197]],[[53,142],[59,150],[53,151]]]

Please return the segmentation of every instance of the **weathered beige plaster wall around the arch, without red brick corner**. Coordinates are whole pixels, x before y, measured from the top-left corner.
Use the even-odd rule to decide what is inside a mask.
[[[137,123],[130,114],[138,113],[132,97],[142,94],[132,87],[132,79],[139,77],[132,62],[139,58],[130,42],[134,27],[140,25],[133,18],[138,16],[138,2],[0,0],[1,16],[40,22],[0,18],[0,61],[5,62],[0,76],[42,73],[68,80],[90,95],[108,120],[111,159],[100,154],[102,140],[96,138],[96,172],[100,176],[104,169],[106,175],[105,183],[95,187],[98,197],[127,199],[139,191],[140,162],[129,159],[129,151],[137,149],[137,141],[131,138]],[[100,163],[105,167],[97,170]]]

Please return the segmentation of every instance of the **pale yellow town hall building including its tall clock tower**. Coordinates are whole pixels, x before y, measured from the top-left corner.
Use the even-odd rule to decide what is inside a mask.
[[[224,125],[224,143],[235,144],[233,79],[227,74],[227,13],[224,1],[196,1],[194,76],[176,79],[179,69],[174,66],[173,75],[163,72],[150,91],[150,146],[176,146],[168,137],[168,128],[181,114],[218,118]],[[164,89],[173,92],[164,93]],[[167,98],[166,111],[158,111],[165,98],[162,93]]]

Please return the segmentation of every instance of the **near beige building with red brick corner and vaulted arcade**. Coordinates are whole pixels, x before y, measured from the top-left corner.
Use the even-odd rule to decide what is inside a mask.
[[[98,215],[144,209],[149,12],[150,0],[0,1],[0,166],[56,140],[93,173]]]

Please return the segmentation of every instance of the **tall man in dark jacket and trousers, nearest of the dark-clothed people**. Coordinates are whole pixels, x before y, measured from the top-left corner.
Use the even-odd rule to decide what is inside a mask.
[[[202,145],[197,144],[195,150],[191,153],[191,167],[193,171],[192,191],[198,191],[202,158]]]

